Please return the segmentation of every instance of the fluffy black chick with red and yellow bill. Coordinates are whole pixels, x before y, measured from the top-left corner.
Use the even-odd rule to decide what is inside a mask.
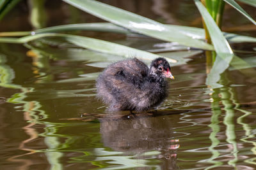
[[[96,80],[97,97],[107,111],[141,112],[156,108],[168,96],[168,81],[174,79],[170,64],[163,57],[150,67],[134,57],[110,64]]]

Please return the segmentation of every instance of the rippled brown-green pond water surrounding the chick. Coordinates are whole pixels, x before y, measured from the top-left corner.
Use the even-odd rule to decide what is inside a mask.
[[[108,39],[143,50],[164,45]],[[3,169],[255,169],[253,67],[230,67],[223,87],[211,89],[203,51],[162,53],[179,59],[164,103],[147,113],[106,114],[95,78],[122,58],[60,44],[0,44]],[[253,53],[239,56],[255,63]]]

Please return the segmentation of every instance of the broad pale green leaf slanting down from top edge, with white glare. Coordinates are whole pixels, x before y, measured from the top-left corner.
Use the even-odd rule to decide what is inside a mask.
[[[63,1],[72,4],[83,11],[91,13],[92,15],[104,20],[108,20],[113,24],[125,27],[140,34],[152,36],[164,41],[175,41],[181,45],[193,46],[205,50],[213,50],[211,45],[205,43],[204,41],[190,38],[186,34],[182,34],[182,32],[177,31],[177,29],[172,29],[154,20],[141,17],[140,15],[136,15],[108,4],[92,0]]]

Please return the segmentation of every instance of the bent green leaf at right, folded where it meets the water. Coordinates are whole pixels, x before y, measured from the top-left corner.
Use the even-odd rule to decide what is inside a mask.
[[[212,88],[218,88],[221,85],[217,82],[220,80],[220,74],[223,73],[229,66],[233,52],[227,39],[223,36],[220,28],[216,25],[209,12],[199,0],[194,0],[196,7],[204,18],[205,25],[209,31],[212,43],[217,53],[217,59],[212,66],[211,72],[208,74],[206,84],[211,85]]]

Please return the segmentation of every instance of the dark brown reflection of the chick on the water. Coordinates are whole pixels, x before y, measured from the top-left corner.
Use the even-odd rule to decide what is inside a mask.
[[[136,115],[134,117],[105,117],[100,120],[100,132],[104,146],[115,151],[143,155],[158,151],[158,159],[163,168],[175,168],[179,139],[173,138],[172,119],[169,116],[154,117]]]

